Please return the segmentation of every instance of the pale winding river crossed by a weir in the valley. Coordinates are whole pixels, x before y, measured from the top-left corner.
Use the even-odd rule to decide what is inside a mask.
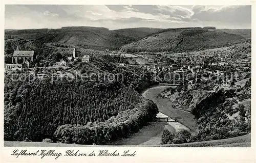
[[[145,90],[143,97],[153,100],[159,109],[160,114],[157,116],[168,116],[170,119],[178,117],[178,122],[151,122],[147,126],[134,133],[129,138],[118,140],[111,145],[158,145],[161,143],[161,135],[164,128],[171,132],[180,130],[189,130],[191,133],[196,132],[196,119],[194,115],[182,110],[173,108],[173,103],[166,98],[157,98],[157,96],[166,88],[171,86],[155,86]]]

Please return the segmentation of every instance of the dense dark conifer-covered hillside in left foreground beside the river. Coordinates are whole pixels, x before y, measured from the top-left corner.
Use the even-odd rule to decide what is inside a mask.
[[[118,67],[100,56],[74,69],[83,77],[71,81],[65,77],[33,80],[29,72],[14,78],[13,72],[5,73],[5,141],[47,138],[63,143],[102,144],[128,137],[158,113],[156,104],[136,91],[151,85],[151,76],[134,76],[129,68]],[[124,80],[104,79],[104,75],[90,80],[91,73],[123,73]]]

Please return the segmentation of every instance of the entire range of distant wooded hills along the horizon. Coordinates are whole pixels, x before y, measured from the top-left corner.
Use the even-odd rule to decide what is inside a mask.
[[[210,31],[207,31],[210,28]],[[127,28],[109,30],[94,26],[63,26],[60,29],[6,29],[5,35],[42,43],[81,45],[92,49],[120,49],[121,52],[189,51],[222,47],[251,38],[251,30],[219,30],[215,27]],[[245,39],[246,38],[246,39]]]

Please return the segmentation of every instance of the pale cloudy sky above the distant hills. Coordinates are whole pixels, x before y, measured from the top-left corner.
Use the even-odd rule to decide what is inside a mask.
[[[251,29],[251,6],[5,5],[5,29],[63,26]]]

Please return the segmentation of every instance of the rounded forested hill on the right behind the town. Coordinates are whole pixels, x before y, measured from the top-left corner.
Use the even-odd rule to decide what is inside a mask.
[[[169,29],[124,45],[121,52],[189,51],[223,47],[246,40],[244,37],[222,31],[195,29]]]

